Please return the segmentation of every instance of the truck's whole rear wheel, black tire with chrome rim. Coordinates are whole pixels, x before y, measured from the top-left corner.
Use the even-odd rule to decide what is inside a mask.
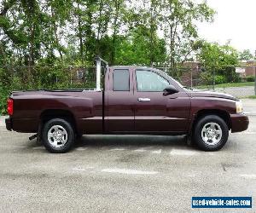
[[[51,119],[44,124],[42,139],[49,153],[67,153],[74,144],[73,127],[64,119]]]

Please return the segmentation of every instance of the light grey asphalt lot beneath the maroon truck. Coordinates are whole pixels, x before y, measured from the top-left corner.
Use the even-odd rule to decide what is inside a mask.
[[[248,103],[253,110],[256,101]],[[242,212],[255,212],[256,116],[249,118],[249,129],[214,153],[181,136],[90,135],[70,153],[51,154],[2,121],[0,211],[199,212],[192,196],[252,196],[253,209]]]

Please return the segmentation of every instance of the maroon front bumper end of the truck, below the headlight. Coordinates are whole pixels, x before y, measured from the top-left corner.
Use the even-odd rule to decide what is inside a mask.
[[[231,114],[231,131],[241,132],[247,130],[249,125],[249,118],[244,114]]]

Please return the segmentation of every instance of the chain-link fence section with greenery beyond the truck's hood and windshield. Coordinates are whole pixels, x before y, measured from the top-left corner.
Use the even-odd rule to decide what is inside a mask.
[[[195,62],[187,62],[185,66],[179,66],[175,70],[168,66],[156,68],[167,72],[172,78],[177,79],[189,89],[211,89],[225,92],[236,87],[245,89],[248,87],[250,92],[247,91],[246,94],[254,95],[255,67],[246,67],[246,72],[244,73],[236,73],[235,66],[226,66],[225,69],[221,71],[219,71],[219,68],[213,68],[213,71],[209,71]],[[243,89],[241,89],[241,91],[242,90]],[[239,92],[238,89],[237,92]]]

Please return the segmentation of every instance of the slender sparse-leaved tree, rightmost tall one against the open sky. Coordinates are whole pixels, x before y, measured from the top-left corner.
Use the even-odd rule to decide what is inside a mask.
[[[196,21],[212,21],[214,10],[207,3],[192,0],[160,1],[160,26],[168,45],[168,62],[172,68],[186,60],[198,38]]]

